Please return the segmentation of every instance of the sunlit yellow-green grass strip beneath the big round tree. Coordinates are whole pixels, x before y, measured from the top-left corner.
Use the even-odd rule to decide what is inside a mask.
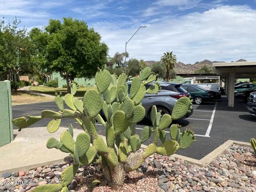
[[[76,97],[84,97],[84,93],[87,90],[90,89],[96,89],[96,87],[89,86],[89,87],[79,87],[77,89],[75,96]],[[67,88],[58,88],[58,87],[47,87],[47,86],[31,86],[29,88],[31,91],[36,91],[38,93],[45,93],[45,94],[50,94],[50,95],[55,95],[57,92],[58,94],[62,92],[63,95],[67,94]]]

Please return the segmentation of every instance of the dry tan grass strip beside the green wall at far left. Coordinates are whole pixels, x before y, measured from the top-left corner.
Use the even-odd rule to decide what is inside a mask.
[[[25,91],[16,91],[12,93],[12,106],[35,103],[35,102],[53,101],[53,100],[54,98],[44,97],[36,94],[30,94]]]

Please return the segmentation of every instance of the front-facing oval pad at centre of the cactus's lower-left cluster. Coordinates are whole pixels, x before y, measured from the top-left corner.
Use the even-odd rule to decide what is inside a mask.
[[[78,156],[83,156],[89,149],[91,143],[90,135],[87,133],[79,133],[76,137],[76,147]]]

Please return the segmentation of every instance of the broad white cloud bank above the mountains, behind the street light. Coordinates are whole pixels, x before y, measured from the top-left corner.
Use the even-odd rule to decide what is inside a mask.
[[[247,6],[219,6],[203,13],[165,18],[140,29],[127,44],[127,51],[130,58],[144,60],[159,60],[164,52],[173,51],[179,61],[186,63],[204,59],[256,60],[255,22],[256,11]],[[124,52],[125,41],[138,27],[112,30],[95,25],[94,28],[113,56],[117,51]]]

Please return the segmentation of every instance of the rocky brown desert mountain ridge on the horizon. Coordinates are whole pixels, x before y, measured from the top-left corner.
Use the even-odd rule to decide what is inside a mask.
[[[244,59],[239,59],[237,62],[246,61]],[[145,61],[148,66],[151,66],[156,61]],[[183,62],[175,63],[175,72],[177,74],[187,74],[187,73],[194,73],[195,70],[202,68],[204,65],[212,67],[212,63],[214,62],[224,62],[224,61],[209,61],[207,59],[203,61],[197,61],[194,64],[185,64]]]

